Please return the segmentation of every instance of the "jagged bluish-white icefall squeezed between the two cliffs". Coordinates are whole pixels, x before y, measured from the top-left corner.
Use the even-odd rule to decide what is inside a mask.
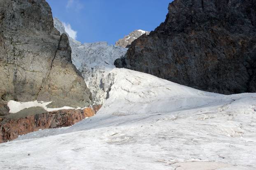
[[[54,18],[54,27],[65,33],[63,23]],[[67,34],[68,36],[68,34]],[[82,73],[87,86],[92,93],[92,101],[102,104],[108,97],[110,83],[108,73],[115,68],[114,61],[126,54],[127,49],[108,45],[107,42],[80,43],[68,36],[72,49],[72,63]]]

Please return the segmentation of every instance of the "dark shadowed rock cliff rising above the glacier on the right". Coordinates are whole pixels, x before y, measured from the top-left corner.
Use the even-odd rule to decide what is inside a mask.
[[[256,2],[175,0],[116,67],[223,94],[256,92]]]

